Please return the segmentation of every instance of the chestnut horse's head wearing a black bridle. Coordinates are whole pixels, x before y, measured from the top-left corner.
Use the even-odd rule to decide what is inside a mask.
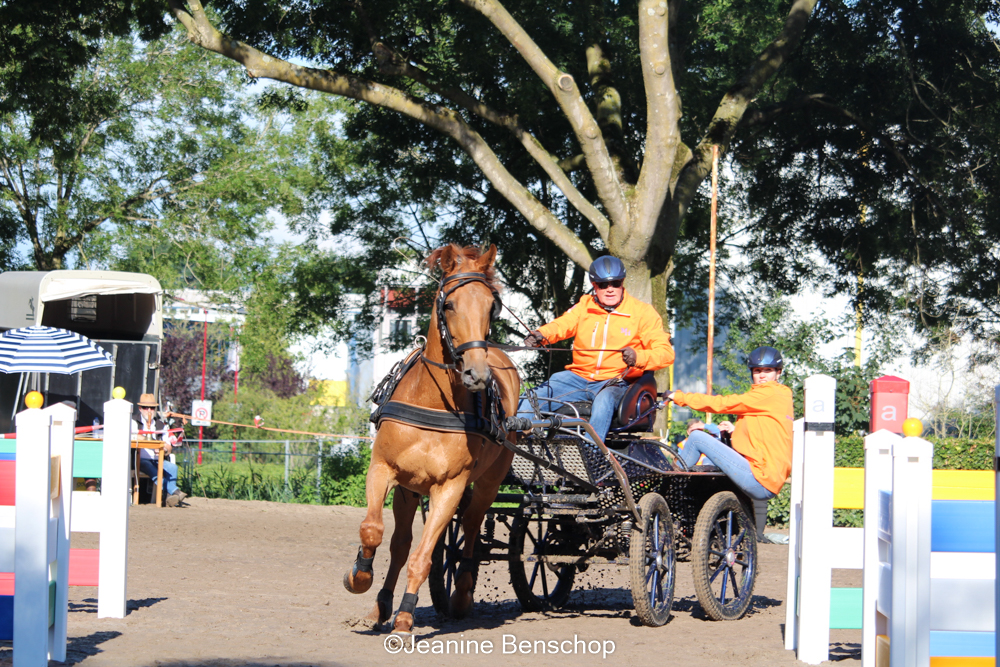
[[[492,320],[499,315],[500,296],[493,275],[497,249],[490,245],[485,252],[450,244],[438,248],[427,258],[444,273],[435,311],[431,318],[441,333],[442,353],[461,373],[462,384],[472,392],[486,389],[492,377],[487,363],[486,339]]]

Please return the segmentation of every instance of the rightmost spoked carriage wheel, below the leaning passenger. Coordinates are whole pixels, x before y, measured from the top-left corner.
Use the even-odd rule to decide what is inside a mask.
[[[736,494],[708,499],[694,526],[694,589],[714,621],[734,621],[750,606],[757,577],[757,533]]]

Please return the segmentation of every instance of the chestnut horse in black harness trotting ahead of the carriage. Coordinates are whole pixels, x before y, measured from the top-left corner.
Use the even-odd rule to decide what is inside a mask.
[[[490,321],[500,305],[493,277],[495,259],[496,246],[480,254],[476,248],[454,244],[438,248],[427,258],[429,267],[437,265],[444,273],[435,300],[437,307],[431,315],[430,333],[421,357],[414,360],[392,393],[394,404],[442,411],[438,414],[452,419],[454,414],[465,413],[468,417],[476,412],[477,404],[486,403],[485,390],[493,378],[505,414],[516,414],[521,384],[517,369],[506,354],[485,343]],[[480,392],[482,400],[477,402],[475,394]],[[445,420],[441,421],[446,426]],[[508,437],[513,442],[515,434]],[[475,537],[512,458],[511,450],[478,431],[455,432],[433,424],[407,423],[392,413],[383,416],[368,468],[368,513],[361,523],[361,549],[344,575],[344,585],[352,593],[364,593],[371,587],[371,559],[385,530],[382,507],[389,491],[395,488],[392,512],[396,529],[389,543],[389,571],[369,619],[376,623],[389,619],[396,579],[410,551],[413,517],[420,496],[429,496],[430,511],[423,536],[407,566],[406,593],[393,622],[394,633],[411,633],[417,589],[430,572],[434,546],[466,488],[475,482],[462,513],[466,539],[450,601],[454,616],[468,612],[475,586],[475,565],[470,560]]]

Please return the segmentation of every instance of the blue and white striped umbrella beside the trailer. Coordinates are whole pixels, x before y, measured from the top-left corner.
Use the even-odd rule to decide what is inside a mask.
[[[0,334],[0,372],[68,375],[111,365],[106,350],[66,329],[34,326]]]

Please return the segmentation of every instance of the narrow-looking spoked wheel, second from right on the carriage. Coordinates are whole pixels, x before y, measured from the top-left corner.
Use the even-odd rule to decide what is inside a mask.
[[[644,495],[639,512],[642,522],[632,527],[629,540],[632,601],[643,625],[659,627],[669,620],[674,602],[674,517],[658,493]]]

